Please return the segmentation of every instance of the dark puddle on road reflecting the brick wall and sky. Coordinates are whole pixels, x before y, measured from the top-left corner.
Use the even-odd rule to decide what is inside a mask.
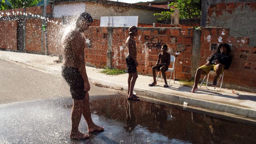
[[[129,135],[143,143],[256,142],[256,127],[121,96],[91,100],[91,108],[98,122],[107,121],[105,129],[112,140]]]

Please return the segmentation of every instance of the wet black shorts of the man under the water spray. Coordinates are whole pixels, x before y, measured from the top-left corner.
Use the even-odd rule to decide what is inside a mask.
[[[84,80],[78,68],[61,66],[61,75],[70,86],[72,98],[75,100],[83,100],[85,97]]]

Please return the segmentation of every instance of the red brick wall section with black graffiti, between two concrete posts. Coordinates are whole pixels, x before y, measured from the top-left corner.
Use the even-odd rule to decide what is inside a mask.
[[[128,29],[114,28],[113,33],[112,66],[126,69],[125,56],[127,55],[127,48],[125,41],[128,37]],[[161,52],[161,45],[165,43],[169,52],[176,56],[175,78],[190,79],[192,37],[193,30],[188,28],[140,28],[138,36],[135,37],[139,63],[137,71],[141,74],[152,75],[151,67],[156,64],[158,54]],[[171,39],[173,40],[171,41]],[[177,51],[180,54],[176,55],[175,52]],[[169,73],[168,75],[170,76]]]

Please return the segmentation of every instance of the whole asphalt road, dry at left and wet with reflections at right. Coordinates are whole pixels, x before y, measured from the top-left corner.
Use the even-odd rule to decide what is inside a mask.
[[[154,104],[91,84],[93,121],[105,127],[87,140],[69,139],[71,107],[61,76],[0,59],[0,144],[256,143],[256,127]],[[87,133],[82,118],[79,129]]]

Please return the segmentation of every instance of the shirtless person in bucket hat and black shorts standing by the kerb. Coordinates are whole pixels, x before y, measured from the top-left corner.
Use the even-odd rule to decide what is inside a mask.
[[[133,88],[138,77],[137,74],[137,66],[139,65],[137,62],[137,49],[136,49],[136,42],[134,40],[134,36],[138,35],[138,29],[135,26],[131,26],[129,28],[129,37],[127,38],[125,45],[128,48],[128,54],[125,58],[127,70],[129,73],[128,76],[128,92],[127,92],[127,99],[128,100],[140,100],[138,96],[133,94]]]

